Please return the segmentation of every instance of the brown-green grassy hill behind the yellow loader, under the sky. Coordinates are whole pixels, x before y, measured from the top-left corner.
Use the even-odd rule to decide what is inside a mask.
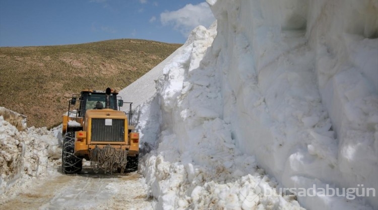
[[[0,47],[0,106],[28,116],[28,126],[61,123],[71,94],[122,90],[181,44],[118,39],[85,44]]]

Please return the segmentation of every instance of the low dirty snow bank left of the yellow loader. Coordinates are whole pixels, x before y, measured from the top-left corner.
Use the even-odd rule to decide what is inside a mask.
[[[34,178],[56,173],[58,139],[45,127],[19,131],[0,116],[0,200],[22,190]]]

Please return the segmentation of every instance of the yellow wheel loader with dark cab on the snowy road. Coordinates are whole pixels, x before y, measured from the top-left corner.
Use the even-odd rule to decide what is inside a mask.
[[[132,132],[132,103],[117,94],[110,88],[73,94],[62,123],[63,173],[80,173],[83,159],[90,161],[95,172],[137,170],[139,133]],[[124,103],[130,104],[129,113],[119,110]]]

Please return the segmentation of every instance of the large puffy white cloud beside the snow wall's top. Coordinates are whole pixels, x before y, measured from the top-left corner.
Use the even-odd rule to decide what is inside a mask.
[[[163,25],[173,25],[174,30],[187,37],[199,25],[209,27],[215,18],[209,5],[204,2],[198,5],[188,4],[176,11],[163,12],[160,14],[160,20]]]

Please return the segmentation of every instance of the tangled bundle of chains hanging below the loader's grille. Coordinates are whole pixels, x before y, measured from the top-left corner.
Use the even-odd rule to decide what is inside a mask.
[[[114,169],[120,169],[120,173],[123,173],[128,163],[128,151],[115,149],[110,145],[106,145],[104,148],[95,147],[89,151],[89,160],[93,170],[97,173],[99,169],[106,172],[109,171],[112,174]]]

